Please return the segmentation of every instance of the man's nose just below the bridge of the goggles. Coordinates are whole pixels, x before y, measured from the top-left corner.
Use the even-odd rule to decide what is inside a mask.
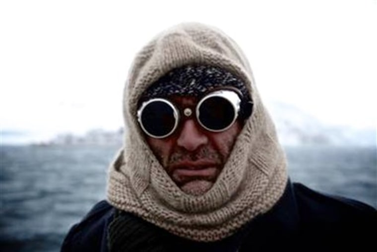
[[[182,126],[177,145],[188,151],[194,151],[199,146],[208,143],[208,137],[199,130],[193,120],[186,120]]]

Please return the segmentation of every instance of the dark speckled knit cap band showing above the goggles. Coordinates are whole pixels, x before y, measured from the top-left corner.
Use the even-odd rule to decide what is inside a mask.
[[[144,91],[139,105],[151,98],[165,98],[170,95],[197,97],[222,86],[237,88],[242,93],[244,102],[251,100],[244,82],[232,73],[210,65],[188,65],[171,70],[153,83]]]

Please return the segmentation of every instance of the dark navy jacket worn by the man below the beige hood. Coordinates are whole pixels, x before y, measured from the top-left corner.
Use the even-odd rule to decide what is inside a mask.
[[[66,236],[62,252],[107,252],[114,216],[126,219],[114,251],[369,251],[376,249],[376,209],[356,200],[288,183],[283,196],[234,235],[217,242],[190,241],[160,229],[106,201],[97,203]],[[120,243],[121,241],[121,243]]]

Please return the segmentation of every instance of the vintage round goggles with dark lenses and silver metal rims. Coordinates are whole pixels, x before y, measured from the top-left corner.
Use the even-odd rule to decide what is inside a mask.
[[[241,102],[241,94],[235,90],[213,91],[197,103],[194,109],[196,120],[201,127],[212,132],[227,130],[237,120]],[[177,129],[181,115],[190,117],[192,109],[179,110],[167,99],[153,98],[141,104],[137,121],[148,136],[164,138]]]

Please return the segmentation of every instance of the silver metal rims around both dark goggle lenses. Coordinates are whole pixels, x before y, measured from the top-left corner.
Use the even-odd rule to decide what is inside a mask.
[[[204,124],[202,124],[202,122],[200,122],[199,120],[199,116],[200,116],[200,106],[203,102],[205,102],[207,99],[209,98],[212,98],[212,97],[221,97],[221,98],[224,98],[226,99],[227,101],[230,102],[230,104],[232,105],[233,109],[234,109],[234,117],[233,117],[233,120],[231,121],[231,123],[229,123],[228,126],[224,127],[224,128],[221,128],[221,129],[212,129],[212,128],[208,128],[207,126],[205,126]],[[158,136],[158,135],[153,135],[151,134],[150,132],[148,132],[148,130],[145,129],[145,127],[143,126],[142,124],[142,120],[141,120],[141,115],[143,113],[143,110],[152,102],[156,102],[156,101],[159,101],[159,102],[164,102],[166,103],[169,107],[171,107],[173,109],[173,116],[174,116],[174,119],[175,119],[175,123],[174,123],[174,126],[172,128],[171,131],[169,131],[168,133],[166,133],[165,135],[161,135],[161,136]],[[217,90],[217,91],[214,91],[212,93],[209,93],[208,95],[204,96],[202,99],[200,99],[200,101],[197,103],[196,105],[196,109],[195,109],[195,115],[196,115],[196,121],[199,123],[200,126],[202,126],[204,129],[208,130],[208,131],[212,131],[212,132],[221,132],[221,131],[225,131],[227,130],[228,128],[230,128],[234,122],[237,120],[237,117],[238,117],[238,114],[239,114],[239,111],[240,111],[240,106],[241,106],[241,98],[240,96],[233,90]],[[180,120],[180,113],[179,113],[179,110],[176,108],[176,106],[174,106],[173,103],[171,103],[170,101],[168,101],[167,99],[163,99],[163,98],[153,98],[153,99],[150,99],[146,102],[143,102],[140,109],[137,111],[137,121],[139,123],[139,125],[141,126],[141,128],[143,129],[143,131],[153,137],[153,138],[164,138],[164,137],[167,137],[169,135],[171,135],[176,129],[177,129],[177,126],[178,126],[178,122]]]

